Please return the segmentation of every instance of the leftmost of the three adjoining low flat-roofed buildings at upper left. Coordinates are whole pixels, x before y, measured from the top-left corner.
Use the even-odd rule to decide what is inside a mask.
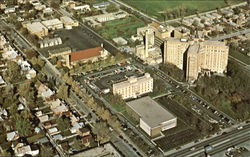
[[[26,24],[26,28],[30,34],[36,35],[39,38],[48,35],[48,29],[41,22],[28,23]]]

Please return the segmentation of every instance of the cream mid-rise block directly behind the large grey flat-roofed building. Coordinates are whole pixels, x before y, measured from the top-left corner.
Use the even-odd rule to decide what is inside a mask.
[[[121,95],[123,99],[136,98],[149,92],[153,92],[153,78],[148,73],[113,84],[113,93]]]

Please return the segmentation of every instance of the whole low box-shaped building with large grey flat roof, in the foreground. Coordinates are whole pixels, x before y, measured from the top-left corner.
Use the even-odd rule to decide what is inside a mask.
[[[177,125],[177,117],[148,96],[127,102],[126,108],[139,121],[142,130],[151,137]]]

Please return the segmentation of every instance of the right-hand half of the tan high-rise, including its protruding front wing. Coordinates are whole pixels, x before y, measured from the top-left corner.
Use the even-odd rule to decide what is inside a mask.
[[[224,42],[204,41],[191,45],[187,52],[187,80],[195,81],[201,72],[223,74],[227,71],[228,53]]]

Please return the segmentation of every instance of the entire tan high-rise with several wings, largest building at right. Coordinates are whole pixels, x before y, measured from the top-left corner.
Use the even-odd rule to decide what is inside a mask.
[[[226,72],[228,53],[229,47],[220,41],[169,39],[164,42],[164,63],[185,70],[189,82],[194,82],[199,73]]]

